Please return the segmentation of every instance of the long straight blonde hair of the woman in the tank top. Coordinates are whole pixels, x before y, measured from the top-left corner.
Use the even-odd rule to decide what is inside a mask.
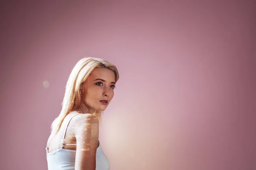
[[[89,77],[90,73],[95,68],[108,68],[113,71],[115,74],[116,82],[119,79],[119,73],[115,65],[106,61],[105,59],[99,59],[94,57],[86,57],[80,59],[67,80],[66,90],[64,99],[62,102],[62,109],[59,116],[52,122],[51,125],[51,135],[55,135],[61,127],[61,124],[64,118],[67,116],[73,108],[77,108],[81,103],[81,84],[86,81],[87,77]],[[101,123],[101,111],[95,111],[93,113],[99,119],[99,123]]]

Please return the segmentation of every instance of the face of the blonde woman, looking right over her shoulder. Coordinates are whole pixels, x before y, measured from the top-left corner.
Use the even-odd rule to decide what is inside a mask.
[[[81,89],[81,100],[90,112],[105,111],[114,96],[115,74],[107,68],[95,68]],[[102,103],[100,100],[108,100]]]

